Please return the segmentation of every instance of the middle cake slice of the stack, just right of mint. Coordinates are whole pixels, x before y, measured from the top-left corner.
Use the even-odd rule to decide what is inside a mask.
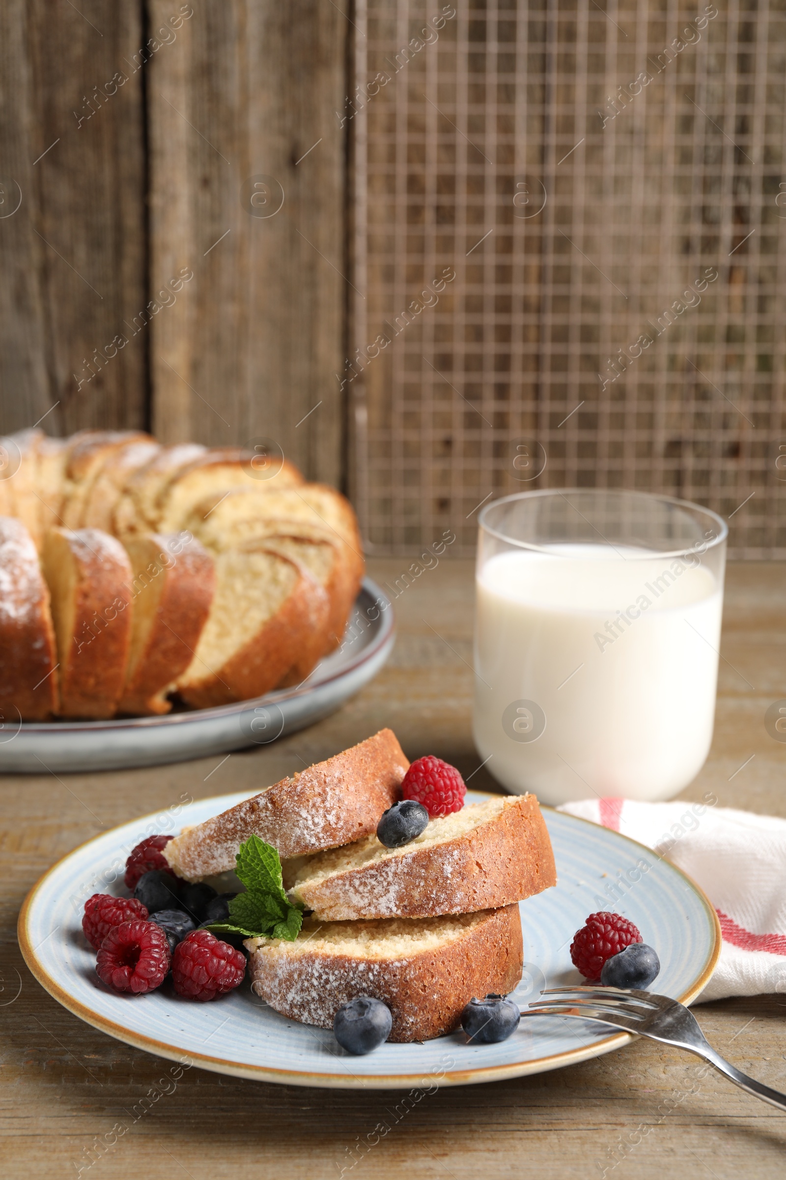
[[[403,847],[368,835],[309,857],[290,897],[322,922],[428,918],[496,909],[551,885],[554,853],[537,799],[500,795],[432,819]]]

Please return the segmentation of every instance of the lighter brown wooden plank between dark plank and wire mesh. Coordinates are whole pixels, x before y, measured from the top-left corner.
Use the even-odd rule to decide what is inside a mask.
[[[178,42],[148,67],[151,290],[181,267],[194,274],[151,323],[153,430],[166,442],[272,439],[336,484],[345,211],[333,111],[348,22],[322,0],[187,7]],[[154,33],[170,7],[150,9]],[[260,176],[284,195],[269,217],[247,203]],[[260,190],[257,211],[278,205],[276,191]]]

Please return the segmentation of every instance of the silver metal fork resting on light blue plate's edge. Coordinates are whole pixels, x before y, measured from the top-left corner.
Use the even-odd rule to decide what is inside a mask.
[[[754,1077],[748,1077],[725,1061],[713,1049],[699,1028],[693,1012],[669,996],[652,991],[623,991],[620,988],[546,988],[542,996],[556,999],[536,999],[522,1010],[522,1016],[576,1016],[581,1020],[610,1024],[626,1032],[648,1036],[662,1044],[673,1044],[704,1057],[719,1073],[748,1094],[755,1094],[779,1110],[786,1110],[786,1094],[771,1090]]]

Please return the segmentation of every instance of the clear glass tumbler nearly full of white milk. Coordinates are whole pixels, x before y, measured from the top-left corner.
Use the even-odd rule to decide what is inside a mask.
[[[480,517],[474,735],[547,804],[671,799],[712,741],[726,524],[628,491],[507,496]]]

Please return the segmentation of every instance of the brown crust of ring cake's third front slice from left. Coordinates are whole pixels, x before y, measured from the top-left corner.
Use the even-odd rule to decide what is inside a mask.
[[[146,572],[150,577],[160,577],[163,585],[156,617],[124,688],[118,713],[167,713],[171,704],[163,691],[191,663],[210,611],[216,584],[213,560],[199,542],[187,535],[152,533],[147,538],[128,538],[126,548],[132,558],[134,549],[151,558],[143,576]],[[137,560],[132,564],[137,570]],[[134,595],[140,591],[139,576],[134,577]]]

